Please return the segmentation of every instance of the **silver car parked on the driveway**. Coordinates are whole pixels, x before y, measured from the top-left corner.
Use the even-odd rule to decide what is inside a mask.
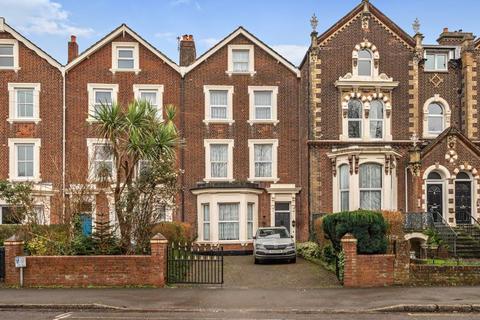
[[[263,260],[288,260],[295,263],[295,241],[285,227],[259,228],[253,237],[253,257],[255,263]]]

